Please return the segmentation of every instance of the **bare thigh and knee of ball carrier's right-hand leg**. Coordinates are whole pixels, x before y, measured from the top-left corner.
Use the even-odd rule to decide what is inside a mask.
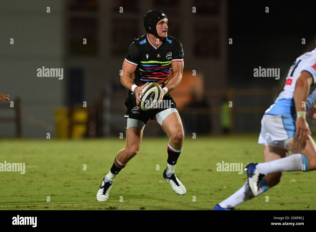
[[[184,130],[179,113],[173,112],[169,114],[163,121],[162,127],[171,137],[183,139]]]

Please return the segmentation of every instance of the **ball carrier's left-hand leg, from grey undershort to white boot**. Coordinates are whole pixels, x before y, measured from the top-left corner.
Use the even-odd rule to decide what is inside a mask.
[[[106,201],[108,199],[114,178],[126,166],[127,162],[138,153],[143,138],[144,127],[145,123],[141,120],[127,119],[125,148],[120,150],[115,156],[109,173],[103,178],[97,192],[97,200]]]

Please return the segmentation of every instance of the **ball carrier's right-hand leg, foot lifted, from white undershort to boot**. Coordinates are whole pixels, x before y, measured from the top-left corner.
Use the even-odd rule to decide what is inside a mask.
[[[157,113],[155,119],[167,132],[170,138],[167,148],[167,167],[163,172],[163,177],[170,183],[174,192],[178,195],[184,195],[186,193],[186,189],[174,174],[174,169],[182,151],[182,144],[184,140],[184,130],[181,118],[177,109],[170,108]]]

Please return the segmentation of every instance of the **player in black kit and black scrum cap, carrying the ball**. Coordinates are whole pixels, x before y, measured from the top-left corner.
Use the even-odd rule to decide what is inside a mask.
[[[168,19],[161,10],[147,12],[143,21],[147,33],[131,44],[122,68],[121,83],[129,90],[125,100],[126,145],[116,155],[109,173],[102,180],[97,192],[99,201],[108,199],[114,178],[138,153],[143,130],[149,118],[155,119],[170,137],[167,146],[167,168],[163,172],[163,178],[170,183],[177,194],[184,195],[186,192],[184,185],[174,174],[175,165],[182,151],[184,131],[176,103],[169,94],[179,85],[182,78],[184,67],[182,44],[178,39],[167,35]],[[173,72],[172,79],[170,79],[171,72]],[[130,78],[133,73],[135,73],[134,80]],[[143,95],[142,89],[150,82],[161,85],[160,101],[169,101],[170,104],[149,111],[140,111],[139,95]]]

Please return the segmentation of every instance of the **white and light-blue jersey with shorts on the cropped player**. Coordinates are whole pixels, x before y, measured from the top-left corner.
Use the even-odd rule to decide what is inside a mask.
[[[306,71],[316,83],[316,48],[299,56],[289,69],[283,91],[276,98],[273,105],[264,113],[261,120],[259,144],[275,145],[285,148],[289,139],[295,136],[296,109],[294,104],[294,90],[296,80],[301,72]],[[313,106],[316,101],[316,90],[307,98],[306,108]]]

